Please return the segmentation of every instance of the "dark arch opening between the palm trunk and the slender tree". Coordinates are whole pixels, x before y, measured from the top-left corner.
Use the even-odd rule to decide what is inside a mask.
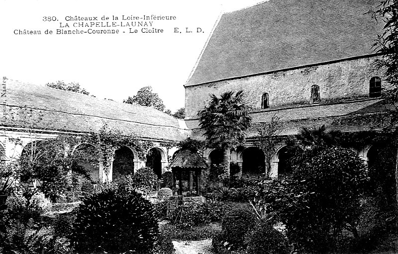
[[[265,173],[264,152],[255,146],[246,147],[242,153],[242,176],[259,176]]]

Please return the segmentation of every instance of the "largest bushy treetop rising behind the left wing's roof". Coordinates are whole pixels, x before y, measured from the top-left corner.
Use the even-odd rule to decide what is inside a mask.
[[[138,90],[137,94],[133,97],[128,97],[123,100],[124,103],[139,104],[141,106],[154,107],[157,110],[164,111],[165,105],[163,100],[159,98],[157,93],[152,92],[151,86],[145,86]],[[171,113],[171,112],[170,112]]]

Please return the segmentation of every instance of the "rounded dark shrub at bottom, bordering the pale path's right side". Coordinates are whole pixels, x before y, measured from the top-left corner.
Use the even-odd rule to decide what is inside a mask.
[[[248,209],[233,209],[222,219],[222,231],[214,236],[212,246],[216,253],[242,251],[246,248],[245,236],[256,224],[256,216]]]

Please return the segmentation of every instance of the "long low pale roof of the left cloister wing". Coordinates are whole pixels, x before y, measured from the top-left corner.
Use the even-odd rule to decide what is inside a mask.
[[[26,126],[26,116],[35,128],[75,132],[98,131],[103,124],[141,137],[182,140],[189,130],[179,121],[151,107],[118,103],[93,96],[67,92],[14,80],[6,81],[6,110],[1,110],[1,125]],[[5,115],[4,115],[5,112]],[[22,113],[23,112],[23,113]],[[39,119],[42,118],[43,120]]]

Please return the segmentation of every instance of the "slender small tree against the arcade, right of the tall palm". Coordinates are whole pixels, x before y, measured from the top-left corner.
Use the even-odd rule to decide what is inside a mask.
[[[264,152],[267,177],[271,174],[271,158],[277,151],[277,144],[282,141],[282,138],[278,136],[283,129],[279,120],[280,118],[275,114],[271,118],[271,122],[257,127],[258,142],[256,142],[256,146]]]

